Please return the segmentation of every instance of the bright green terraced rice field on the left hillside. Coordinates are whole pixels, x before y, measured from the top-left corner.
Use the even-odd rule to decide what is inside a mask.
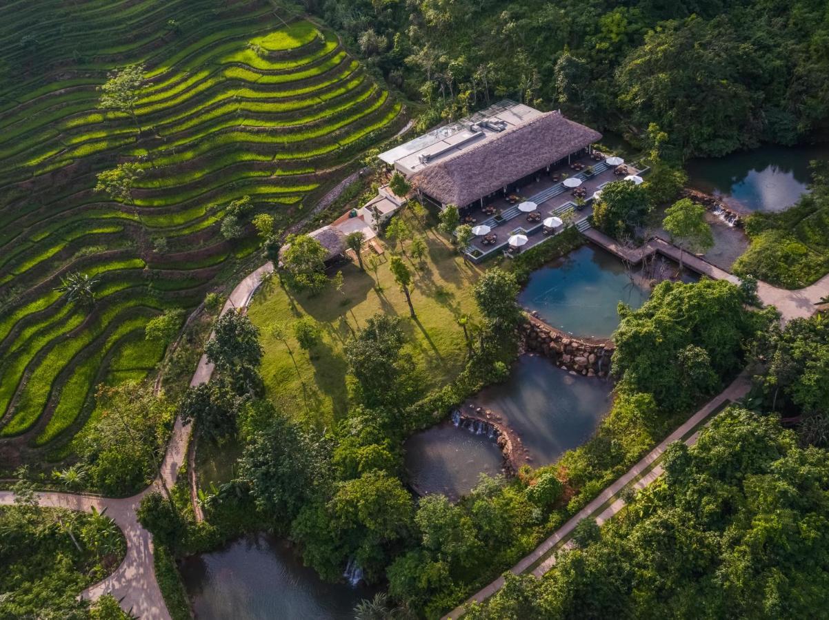
[[[95,386],[152,372],[149,319],[191,309],[256,243],[219,232],[250,195],[301,217],[337,169],[403,123],[337,36],[264,0],[41,0],[0,7],[0,464],[70,454]],[[103,110],[142,63],[136,114]],[[96,193],[119,162],[134,204]],[[161,243],[160,239],[166,243]],[[166,246],[166,248],[165,248]],[[164,248],[160,250],[158,248]],[[91,312],[55,290],[97,281]]]

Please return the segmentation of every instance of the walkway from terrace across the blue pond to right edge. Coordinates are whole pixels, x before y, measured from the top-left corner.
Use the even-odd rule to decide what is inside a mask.
[[[634,265],[641,262],[642,258],[649,257],[655,252],[677,262],[679,261],[680,249],[662,238],[653,238],[641,248],[627,248],[617,243],[613,238],[608,237],[608,235],[600,233],[595,228],[589,228],[583,234],[593,243],[602,246],[608,252],[612,252]],[[709,276],[714,280],[727,280],[734,282],[734,284],[739,284],[739,278],[737,276],[720,269],[720,267],[715,267],[715,265],[697,257],[695,254],[682,252],[682,263],[689,269],[701,273],[704,276]],[[783,323],[796,318],[807,318],[815,313],[815,303],[817,300],[829,295],[829,274],[823,276],[811,286],[797,291],[789,291],[788,289],[778,288],[767,282],[759,281],[757,283],[757,295],[765,305],[774,305],[777,307]]]

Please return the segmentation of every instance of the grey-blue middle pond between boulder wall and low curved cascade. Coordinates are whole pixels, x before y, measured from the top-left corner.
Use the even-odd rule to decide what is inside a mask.
[[[502,415],[534,465],[548,464],[592,435],[612,404],[613,384],[572,375],[550,360],[523,355],[507,382],[486,387],[475,405]]]

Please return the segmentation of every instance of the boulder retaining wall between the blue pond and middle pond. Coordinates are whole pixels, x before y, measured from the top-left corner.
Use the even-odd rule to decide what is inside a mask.
[[[527,351],[550,358],[556,366],[585,377],[607,377],[613,341],[587,342],[550,327],[530,316],[522,328]]]

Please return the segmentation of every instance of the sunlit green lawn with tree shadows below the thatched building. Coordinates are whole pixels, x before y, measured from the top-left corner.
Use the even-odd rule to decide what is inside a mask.
[[[250,319],[261,329],[264,346],[262,376],[268,396],[284,411],[317,423],[332,425],[346,413],[348,405],[347,362],[343,344],[352,329],[365,326],[366,319],[378,312],[398,315],[403,320],[409,343],[405,351],[414,358],[422,394],[450,382],[463,370],[466,344],[459,316],[475,318],[476,306],[472,286],[481,273],[479,267],[466,262],[434,229],[424,228],[408,212],[405,217],[415,235],[421,235],[429,247],[422,267],[414,270],[412,304],[417,313],[409,316],[405,296],[389,271],[391,249],[375,273],[366,264],[361,272],[356,262],[342,269],[342,292],[329,285],[318,296],[293,295],[275,281],[260,291],[250,306]],[[408,247],[408,243],[407,243]],[[398,246],[398,250],[400,247]],[[365,249],[364,262],[373,252]],[[334,276],[337,268],[328,272]],[[322,323],[322,343],[304,351],[293,337],[288,347],[269,333],[277,321],[310,315]],[[290,330],[288,330],[290,331]]]

